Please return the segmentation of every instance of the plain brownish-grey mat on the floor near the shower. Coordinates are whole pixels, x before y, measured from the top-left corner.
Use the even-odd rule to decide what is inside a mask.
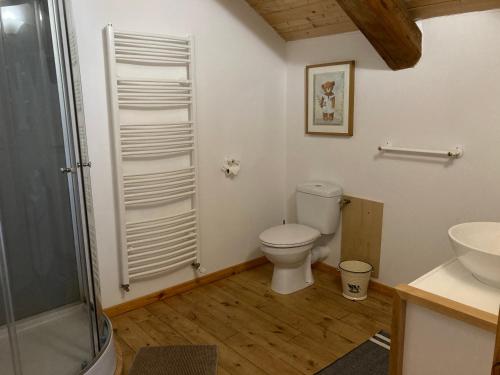
[[[129,375],[216,375],[217,346],[173,345],[140,348]]]

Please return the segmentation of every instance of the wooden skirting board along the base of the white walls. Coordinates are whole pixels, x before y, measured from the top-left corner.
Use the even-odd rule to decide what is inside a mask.
[[[112,318],[114,316],[126,313],[128,311],[139,309],[143,306],[152,304],[162,299],[175,296],[176,294],[187,292],[198,286],[210,284],[217,280],[225,279],[231,275],[235,275],[237,273],[261,266],[266,263],[269,263],[266,257],[253,259],[248,262],[237,264],[235,266],[225,268],[223,270],[199,277],[197,279],[186,281],[185,283],[174,285],[169,288],[160,290],[158,292],[151,293],[146,296],[121,303],[119,305],[108,307],[104,309],[104,313],[108,317]],[[330,266],[326,263],[319,262],[314,264],[313,267],[325,272],[332,272],[338,277],[340,277],[340,272],[337,270],[337,268]],[[372,280],[370,282],[370,289],[375,290],[381,294],[387,295],[389,297],[392,297],[394,295],[394,288],[384,285],[378,281]]]

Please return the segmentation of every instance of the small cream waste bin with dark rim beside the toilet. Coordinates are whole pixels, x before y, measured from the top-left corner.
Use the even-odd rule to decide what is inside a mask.
[[[359,260],[345,260],[340,262],[339,268],[342,277],[342,295],[354,301],[366,299],[372,265]]]

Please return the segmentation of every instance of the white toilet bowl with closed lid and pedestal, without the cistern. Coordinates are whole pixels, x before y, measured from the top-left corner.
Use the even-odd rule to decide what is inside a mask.
[[[320,232],[306,225],[285,224],[261,233],[261,250],[274,264],[271,289],[290,294],[314,283],[312,249]]]

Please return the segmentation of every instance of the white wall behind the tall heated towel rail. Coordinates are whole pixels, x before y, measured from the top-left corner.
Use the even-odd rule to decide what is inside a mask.
[[[73,0],[104,306],[193,277],[187,268],[119,290],[102,30],[196,38],[202,262],[213,272],[260,255],[258,234],[281,222],[285,186],[285,43],[244,1]],[[224,156],[241,158],[234,180]]]

